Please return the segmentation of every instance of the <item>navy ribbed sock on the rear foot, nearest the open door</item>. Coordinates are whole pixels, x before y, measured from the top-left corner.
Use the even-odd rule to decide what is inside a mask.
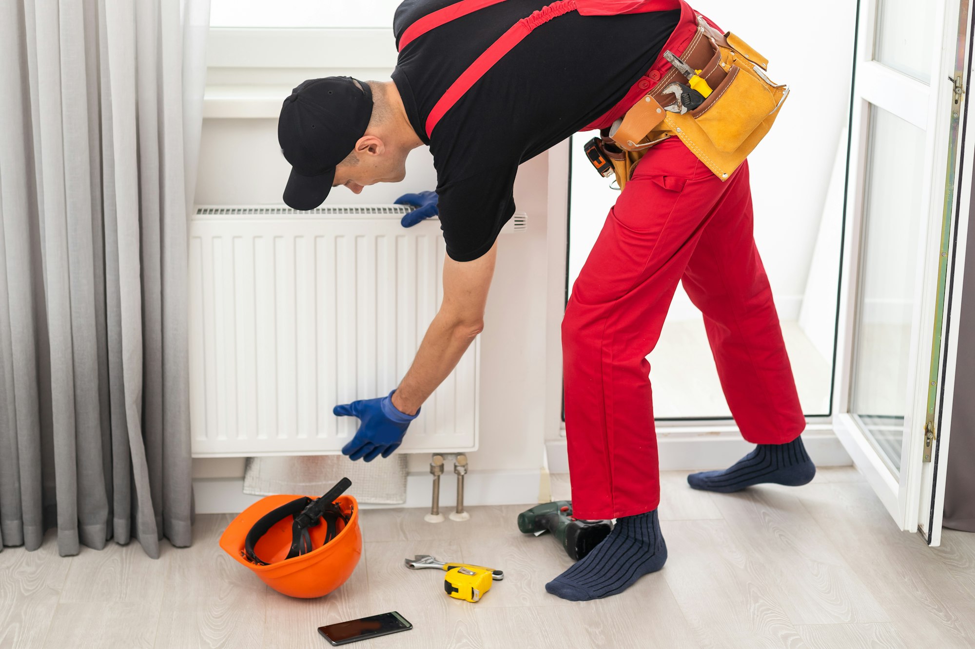
[[[815,475],[816,465],[805,452],[800,436],[784,444],[759,444],[732,467],[691,474],[687,482],[695,489],[730,493],[762,482],[799,486]]]

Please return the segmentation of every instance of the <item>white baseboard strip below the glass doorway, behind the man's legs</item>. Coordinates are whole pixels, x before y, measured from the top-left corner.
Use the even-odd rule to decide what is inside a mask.
[[[848,467],[853,464],[832,430],[806,430],[802,443],[817,467]],[[565,439],[545,442],[548,468],[553,474],[568,473]],[[687,430],[657,436],[660,471],[724,469],[754,448],[734,430]]]

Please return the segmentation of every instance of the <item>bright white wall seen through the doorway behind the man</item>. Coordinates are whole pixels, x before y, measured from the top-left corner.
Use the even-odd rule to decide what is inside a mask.
[[[782,114],[749,157],[755,205],[755,238],[783,319],[795,320],[849,106],[856,3],[815,5],[742,0],[695,0],[691,5],[725,31],[733,31],[769,59],[769,76],[788,83]],[[618,192],[592,171],[579,149],[595,135],[579,134],[573,147],[569,278],[574,282]],[[839,267],[838,267],[839,269]],[[829,284],[829,283],[826,283]],[[836,280],[831,290],[836,294]],[[670,318],[699,314],[678,288]]]

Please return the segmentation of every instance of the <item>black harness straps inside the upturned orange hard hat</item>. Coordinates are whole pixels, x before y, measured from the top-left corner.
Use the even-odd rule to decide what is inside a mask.
[[[341,508],[334,503],[335,499],[342,495],[351,485],[352,481],[347,477],[343,477],[321,498],[308,498],[307,496],[297,498],[261,516],[248,532],[247,538],[244,541],[245,550],[241,555],[257,565],[270,565],[270,563],[257,556],[254,552],[254,546],[257,545],[257,542],[262,536],[267,534],[268,530],[288,516],[293,517],[292,547],[288,552],[286,560],[315,550],[312,547],[311,535],[308,532],[308,528],[320,524],[320,519],[324,519],[326,524],[323,545],[329,543],[338,533],[338,519],[341,518],[344,523],[348,523],[349,516],[352,515],[351,512],[348,514],[343,513]]]

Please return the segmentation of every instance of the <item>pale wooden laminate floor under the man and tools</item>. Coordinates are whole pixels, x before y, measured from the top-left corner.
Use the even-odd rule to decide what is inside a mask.
[[[432,525],[420,510],[363,513],[351,579],[317,600],[268,590],[223,554],[229,515],[201,515],[192,548],[137,544],[61,558],[0,553],[0,647],[325,647],[320,625],[398,610],[414,629],[375,647],[973,647],[975,534],[946,530],[931,549],[898,532],[853,469],[738,494],[662,476],[669,558],[629,591],[566,602],[545,583],[569,565],[557,543],[518,532],[519,506],[472,508]],[[565,477],[553,493],[567,495]],[[433,554],[496,566],[505,580],[477,604],[449,598],[443,573],[403,559]]]

